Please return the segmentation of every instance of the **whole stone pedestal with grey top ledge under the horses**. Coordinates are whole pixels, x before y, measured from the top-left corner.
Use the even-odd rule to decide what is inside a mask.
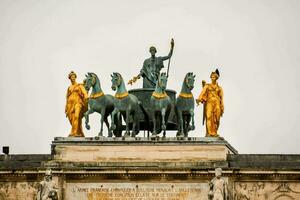
[[[59,162],[225,161],[237,151],[222,138],[63,138],[52,143]]]

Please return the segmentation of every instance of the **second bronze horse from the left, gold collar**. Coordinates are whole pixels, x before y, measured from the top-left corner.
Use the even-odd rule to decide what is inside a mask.
[[[140,107],[140,102],[138,98],[132,94],[129,94],[126,90],[124,80],[119,73],[113,73],[111,75],[111,88],[116,91],[115,101],[114,101],[114,110],[112,113],[112,124],[111,130],[115,130],[117,128],[115,122],[116,117],[121,114],[126,122],[126,132],[124,134],[125,137],[130,136],[130,127],[129,123],[132,119],[132,133],[131,136],[135,137],[139,132],[139,122],[137,118],[137,112]],[[118,117],[119,119],[119,117]]]

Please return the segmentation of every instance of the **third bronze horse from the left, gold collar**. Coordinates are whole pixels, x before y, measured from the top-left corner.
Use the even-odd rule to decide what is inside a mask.
[[[167,122],[172,108],[170,97],[166,93],[168,77],[166,73],[161,73],[158,77],[156,87],[150,99],[151,118],[153,122],[152,137],[163,130],[163,136],[166,136]]]

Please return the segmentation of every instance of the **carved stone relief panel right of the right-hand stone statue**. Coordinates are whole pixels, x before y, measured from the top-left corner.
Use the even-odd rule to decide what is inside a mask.
[[[235,200],[298,200],[297,181],[240,181],[234,183]]]

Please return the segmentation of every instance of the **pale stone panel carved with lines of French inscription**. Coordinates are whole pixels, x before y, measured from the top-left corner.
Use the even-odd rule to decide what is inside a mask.
[[[207,200],[208,183],[67,183],[66,200]]]

